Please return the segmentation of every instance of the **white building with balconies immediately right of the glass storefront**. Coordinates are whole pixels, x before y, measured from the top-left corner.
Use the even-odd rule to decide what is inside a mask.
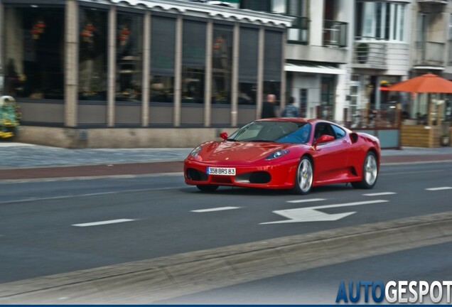
[[[286,95],[302,117],[334,120],[346,97],[350,11],[346,0],[243,0],[242,9],[294,17],[287,31],[284,70]],[[350,15],[349,15],[350,14]]]

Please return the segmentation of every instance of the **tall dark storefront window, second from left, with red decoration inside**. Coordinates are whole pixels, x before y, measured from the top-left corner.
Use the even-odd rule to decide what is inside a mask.
[[[107,12],[80,8],[79,99],[107,100]]]

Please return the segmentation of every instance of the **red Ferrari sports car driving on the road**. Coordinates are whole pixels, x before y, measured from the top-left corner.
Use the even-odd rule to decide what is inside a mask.
[[[202,191],[219,185],[294,189],[351,183],[373,188],[380,168],[380,141],[320,119],[259,119],[220,134],[185,158],[185,183]]]

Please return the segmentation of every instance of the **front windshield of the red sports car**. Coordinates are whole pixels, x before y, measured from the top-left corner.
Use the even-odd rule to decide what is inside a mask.
[[[311,124],[304,122],[252,122],[235,131],[228,141],[268,141],[278,143],[306,143]]]

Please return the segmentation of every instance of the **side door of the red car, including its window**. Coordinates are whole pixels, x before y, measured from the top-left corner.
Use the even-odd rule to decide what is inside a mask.
[[[314,180],[316,182],[337,181],[346,178],[348,169],[348,151],[350,139],[339,126],[328,122],[318,122],[314,129],[314,140],[327,134],[334,137],[333,141],[317,144],[314,158]]]

